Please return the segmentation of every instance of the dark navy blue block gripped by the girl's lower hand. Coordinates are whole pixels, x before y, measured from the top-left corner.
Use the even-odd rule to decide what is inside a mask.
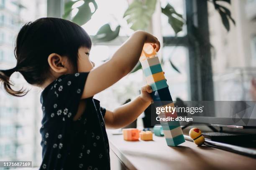
[[[155,107],[167,105],[172,102],[172,97],[168,87],[151,92]]]

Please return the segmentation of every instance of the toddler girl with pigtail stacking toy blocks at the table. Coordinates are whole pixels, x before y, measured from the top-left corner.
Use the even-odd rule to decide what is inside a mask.
[[[105,127],[121,128],[133,122],[151,104],[152,90],[149,85],[142,87],[141,95],[114,111],[100,107],[93,96],[133,69],[144,43],[151,43],[156,51],[160,48],[156,37],[136,31],[108,62],[93,68],[92,42],[79,25],[41,18],[21,28],[15,45],[17,64],[0,70],[0,80],[14,96],[28,92],[12,89],[9,79],[15,71],[43,89],[41,170],[110,169]]]

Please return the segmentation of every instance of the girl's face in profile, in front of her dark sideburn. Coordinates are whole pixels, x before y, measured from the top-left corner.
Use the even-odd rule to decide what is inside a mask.
[[[77,70],[78,72],[89,72],[95,66],[89,58],[90,50],[87,47],[78,49]]]

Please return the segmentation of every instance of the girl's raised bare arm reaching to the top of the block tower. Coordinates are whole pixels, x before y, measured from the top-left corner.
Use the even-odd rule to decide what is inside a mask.
[[[105,90],[131,72],[139,60],[144,43],[153,44],[156,52],[159,51],[160,42],[156,37],[144,31],[134,32],[108,62],[90,71],[82,99]]]

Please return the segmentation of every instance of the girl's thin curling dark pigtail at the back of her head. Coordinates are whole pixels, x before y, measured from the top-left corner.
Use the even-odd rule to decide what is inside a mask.
[[[21,97],[26,95],[28,92],[23,89],[23,87],[15,91],[12,89],[11,86],[13,86],[13,83],[10,81],[10,76],[15,72],[15,67],[9,70],[0,70],[0,82],[3,83],[3,87],[6,92],[8,92],[10,95]]]

